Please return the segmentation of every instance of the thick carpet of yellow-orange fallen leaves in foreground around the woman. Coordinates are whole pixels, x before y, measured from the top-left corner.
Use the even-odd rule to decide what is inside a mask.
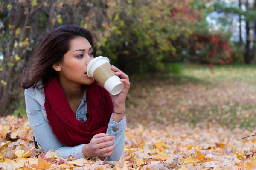
[[[119,161],[63,159],[58,153],[35,149],[32,130],[26,118],[0,118],[0,168],[12,169],[253,169],[256,139],[250,130],[216,127],[191,128],[189,124],[171,124],[161,130],[143,126],[126,130],[125,154]],[[161,127],[161,126],[160,126]],[[115,166],[113,166],[115,165]]]

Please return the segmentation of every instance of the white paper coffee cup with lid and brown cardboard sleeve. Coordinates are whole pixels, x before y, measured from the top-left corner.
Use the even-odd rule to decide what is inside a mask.
[[[107,57],[99,56],[91,60],[87,66],[87,75],[96,79],[112,95],[119,94],[124,88],[124,83],[111,70]]]

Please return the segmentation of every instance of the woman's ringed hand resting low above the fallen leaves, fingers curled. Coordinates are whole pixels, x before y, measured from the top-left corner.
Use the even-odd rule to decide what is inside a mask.
[[[112,145],[113,144],[113,145]],[[112,146],[111,146],[112,145]],[[113,154],[114,146],[114,136],[109,136],[109,134],[99,133],[93,136],[89,144],[84,145],[87,147],[87,152],[83,154],[85,157],[95,157],[105,158],[107,156],[111,156]],[[101,150],[102,149],[102,150]],[[85,151],[86,152],[86,151]],[[100,153],[104,153],[103,155]],[[86,156],[88,155],[88,156]]]

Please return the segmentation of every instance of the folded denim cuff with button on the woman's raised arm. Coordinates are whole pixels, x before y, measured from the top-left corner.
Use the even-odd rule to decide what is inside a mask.
[[[123,133],[126,128],[126,115],[122,118],[122,120],[119,123],[117,123],[113,120],[112,113],[110,121],[108,123],[108,128],[112,136],[118,136],[120,133]]]

